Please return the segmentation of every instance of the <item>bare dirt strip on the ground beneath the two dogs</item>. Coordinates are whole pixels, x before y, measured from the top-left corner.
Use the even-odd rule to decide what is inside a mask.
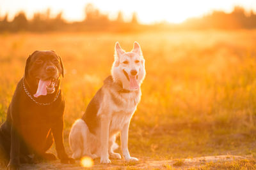
[[[237,155],[218,155],[197,157],[191,159],[174,159],[174,160],[140,160],[139,162],[124,162],[124,160],[113,160],[112,164],[99,164],[99,159],[95,160],[95,165],[90,169],[172,169],[172,167],[179,169],[188,169],[191,167],[200,167],[209,162],[224,163],[232,162],[234,160],[248,159],[246,156]],[[0,169],[4,168],[3,166]],[[81,167],[80,161],[76,164],[61,164],[59,161],[43,162],[39,164],[22,164],[21,169],[84,169]]]

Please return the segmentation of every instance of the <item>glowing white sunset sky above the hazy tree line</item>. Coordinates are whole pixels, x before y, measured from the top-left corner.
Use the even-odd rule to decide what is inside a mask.
[[[51,8],[51,15],[54,17],[63,11],[63,17],[68,21],[81,21],[84,19],[84,7],[92,3],[99,8],[102,13],[108,13],[109,17],[115,19],[118,11],[124,13],[125,20],[131,18],[134,11],[138,14],[138,19],[143,24],[154,22],[180,23],[190,17],[200,17],[212,10],[223,10],[230,12],[234,6],[243,6],[247,11],[256,11],[255,0],[195,0],[195,1],[172,1],[172,0],[94,0],[94,1],[54,1],[54,0],[0,0],[0,16],[9,14],[9,19],[19,11],[25,11],[28,18],[33,17],[35,12],[44,12]]]

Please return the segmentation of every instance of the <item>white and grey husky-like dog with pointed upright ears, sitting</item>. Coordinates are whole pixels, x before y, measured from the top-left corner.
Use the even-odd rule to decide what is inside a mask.
[[[100,157],[101,163],[111,163],[121,159],[115,143],[120,132],[124,159],[138,160],[130,156],[128,150],[129,124],[141,98],[140,85],[145,77],[145,60],[140,45],[135,42],[131,52],[125,52],[119,43],[115,45],[115,62],[111,76],[104,80],[83,117],[72,125],[69,143],[72,158],[88,155]]]

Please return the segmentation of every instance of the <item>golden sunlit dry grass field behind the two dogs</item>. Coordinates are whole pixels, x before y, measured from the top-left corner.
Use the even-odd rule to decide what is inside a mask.
[[[65,146],[69,150],[69,129],[110,74],[116,41],[127,51],[138,41],[146,60],[143,95],[129,130],[132,156],[141,163],[206,155],[246,155],[250,159],[236,160],[227,167],[256,169],[253,30],[1,33],[0,123],[5,120],[17,82],[24,74],[28,55],[35,50],[56,50],[65,66],[61,86],[66,100]],[[95,162],[99,164],[99,160]],[[131,166],[122,164],[126,168]],[[225,169],[223,166],[207,163],[198,168]]]

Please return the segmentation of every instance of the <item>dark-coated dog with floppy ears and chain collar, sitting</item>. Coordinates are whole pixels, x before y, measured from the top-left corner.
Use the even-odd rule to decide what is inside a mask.
[[[53,138],[61,162],[74,163],[63,146],[65,101],[60,90],[61,75],[63,64],[53,51],[35,51],[26,60],[24,77],[0,127],[0,156],[9,162],[7,169],[19,169],[20,163],[38,157],[56,159],[52,153],[45,153]]]

